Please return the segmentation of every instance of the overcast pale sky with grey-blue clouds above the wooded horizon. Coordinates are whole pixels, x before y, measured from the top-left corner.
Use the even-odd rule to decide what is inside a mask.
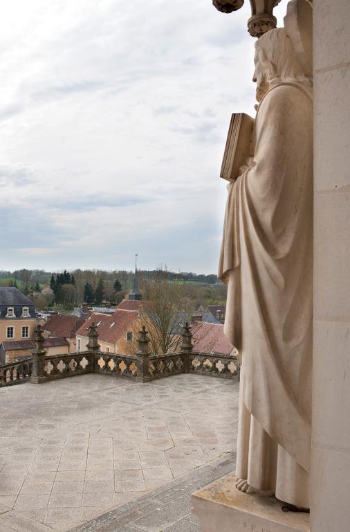
[[[246,4],[1,2],[0,269],[131,269],[138,252],[217,271],[230,115],[255,104]]]

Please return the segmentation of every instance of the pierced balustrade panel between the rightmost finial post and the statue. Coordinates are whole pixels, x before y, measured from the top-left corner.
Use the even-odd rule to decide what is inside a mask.
[[[191,353],[188,360],[188,372],[238,381],[240,366],[237,356],[234,355]]]

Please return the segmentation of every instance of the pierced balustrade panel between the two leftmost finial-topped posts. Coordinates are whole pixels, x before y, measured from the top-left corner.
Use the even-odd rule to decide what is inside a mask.
[[[45,357],[44,376],[47,380],[86,373],[93,373],[93,353],[89,351]]]

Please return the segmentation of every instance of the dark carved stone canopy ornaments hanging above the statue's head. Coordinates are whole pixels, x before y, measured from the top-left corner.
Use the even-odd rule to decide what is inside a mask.
[[[252,16],[248,20],[248,32],[252,37],[261,37],[266,31],[272,30],[277,25],[277,19],[273,15],[273,8],[281,0],[250,0]],[[231,13],[243,6],[244,0],[213,0],[217,10]]]

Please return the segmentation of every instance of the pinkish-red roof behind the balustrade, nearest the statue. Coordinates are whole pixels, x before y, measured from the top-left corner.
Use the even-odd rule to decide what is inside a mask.
[[[192,326],[193,351],[195,353],[218,353],[229,355],[234,349],[231,342],[223,334],[221,323],[195,321]]]

